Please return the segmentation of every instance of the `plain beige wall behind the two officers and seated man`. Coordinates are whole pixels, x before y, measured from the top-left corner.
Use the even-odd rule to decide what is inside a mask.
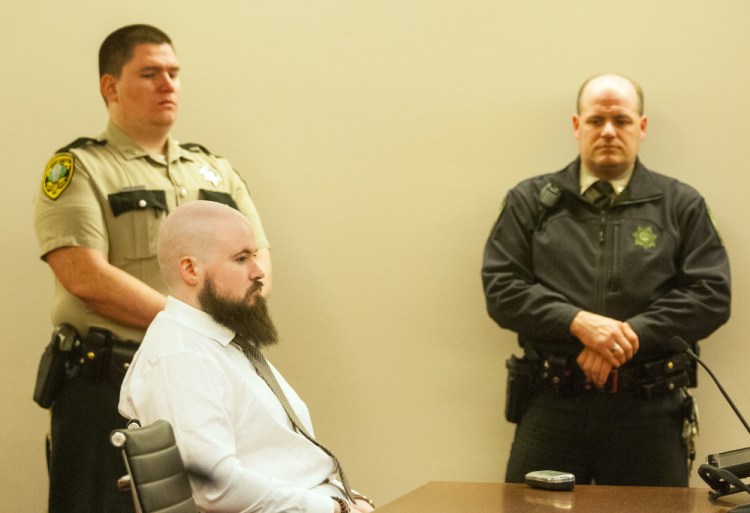
[[[6,0],[0,16],[6,511],[46,500],[48,417],[31,392],[51,275],[32,191],[56,148],[103,129],[96,51],[133,22],[175,40],[175,134],[229,157],[255,195],[283,334],[273,360],[381,503],[429,480],[502,479],[515,341],[485,313],[482,248],[508,188],[575,156],[575,92],[599,71],[642,83],[644,161],[712,205],[735,300],[704,356],[750,415],[745,0]],[[700,459],[750,445],[705,375],[698,396]]]

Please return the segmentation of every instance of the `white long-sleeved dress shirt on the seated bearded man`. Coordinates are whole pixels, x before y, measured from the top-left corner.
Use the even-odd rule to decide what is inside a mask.
[[[172,424],[204,512],[331,513],[331,458],[297,433],[234,333],[173,297],[148,328],[125,376],[120,413]],[[273,368],[300,421],[310,414]],[[203,478],[199,477],[203,476]]]

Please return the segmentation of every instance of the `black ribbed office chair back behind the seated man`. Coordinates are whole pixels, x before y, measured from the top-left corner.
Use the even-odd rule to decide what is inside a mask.
[[[128,475],[118,485],[130,489],[136,513],[198,513],[169,422],[140,427],[131,421],[112,431],[110,441],[125,460]]]

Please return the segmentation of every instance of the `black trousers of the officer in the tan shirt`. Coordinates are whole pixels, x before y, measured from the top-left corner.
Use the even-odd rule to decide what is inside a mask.
[[[117,488],[125,475],[122,456],[109,442],[125,427],[117,412],[120,390],[82,377],[68,381],[52,405],[49,513],[132,513],[129,492]]]

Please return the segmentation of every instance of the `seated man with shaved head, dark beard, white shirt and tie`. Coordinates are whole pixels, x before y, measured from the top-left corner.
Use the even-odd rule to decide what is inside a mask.
[[[170,296],[125,376],[120,412],[172,424],[201,511],[372,511],[259,351],[277,333],[256,252],[250,224],[225,205],[193,201],[166,218],[157,254]]]

